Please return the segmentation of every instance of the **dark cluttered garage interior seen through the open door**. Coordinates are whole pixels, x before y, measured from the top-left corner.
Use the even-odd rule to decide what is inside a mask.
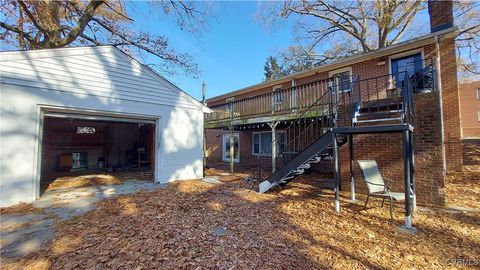
[[[153,181],[152,121],[45,116],[40,195],[47,189]]]

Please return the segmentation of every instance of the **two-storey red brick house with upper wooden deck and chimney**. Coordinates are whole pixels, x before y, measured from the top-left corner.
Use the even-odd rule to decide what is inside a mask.
[[[362,192],[360,172],[355,165],[350,171],[351,160],[374,159],[382,174],[395,180],[393,189],[406,190],[402,179],[407,178],[409,150],[402,145],[404,135],[394,129],[409,126],[417,201],[444,205],[445,175],[462,166],[456,29],[451,2],[430,1],[429,13],[428,35],[208,99],[213,113],[205,119],[207,165],[260,164],[266,171],[280,171],[290,154],[300,155],[328,130],[357,128],[365,132],[325,148],[338,148],[338,163],[325,155],[310,170],[331,171],[338,164],[338,186],[349,191],[352,174],[353,186]],[[365,117],[357,119],[360,111],[355,110],[363,110]],[[384,131],[367,132],[379,126]]]

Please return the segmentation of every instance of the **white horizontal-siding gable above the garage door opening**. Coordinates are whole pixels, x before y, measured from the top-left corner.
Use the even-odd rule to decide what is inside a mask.
[[[185,93],[110,46],[0,54],[2,81],[52,91],[199,108]]]

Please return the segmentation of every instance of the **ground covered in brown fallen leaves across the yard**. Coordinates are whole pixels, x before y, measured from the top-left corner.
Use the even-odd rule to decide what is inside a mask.
[[[333,207],[313,176],[269,194],[248,175],[221,184],[180,181],[166,189],[106,200],[84,216],[55,225],[43,250],[6,269],[410,269],[461,268],[480,260],[480,213],[419,209],[417,233],[399,230],[387,207],[372,201]],[[247,179],[246,179],[247,178]],[[360,197],[360,199],[364,199]],[[478,199],[478,198],[476,198]]]

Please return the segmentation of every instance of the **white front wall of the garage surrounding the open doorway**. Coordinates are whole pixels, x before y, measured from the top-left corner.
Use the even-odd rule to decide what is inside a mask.
[[[113,47],[0,53],[0,206],[38,195],[45,108],[157,119],[156,181],[202,177],[205,107]]]

